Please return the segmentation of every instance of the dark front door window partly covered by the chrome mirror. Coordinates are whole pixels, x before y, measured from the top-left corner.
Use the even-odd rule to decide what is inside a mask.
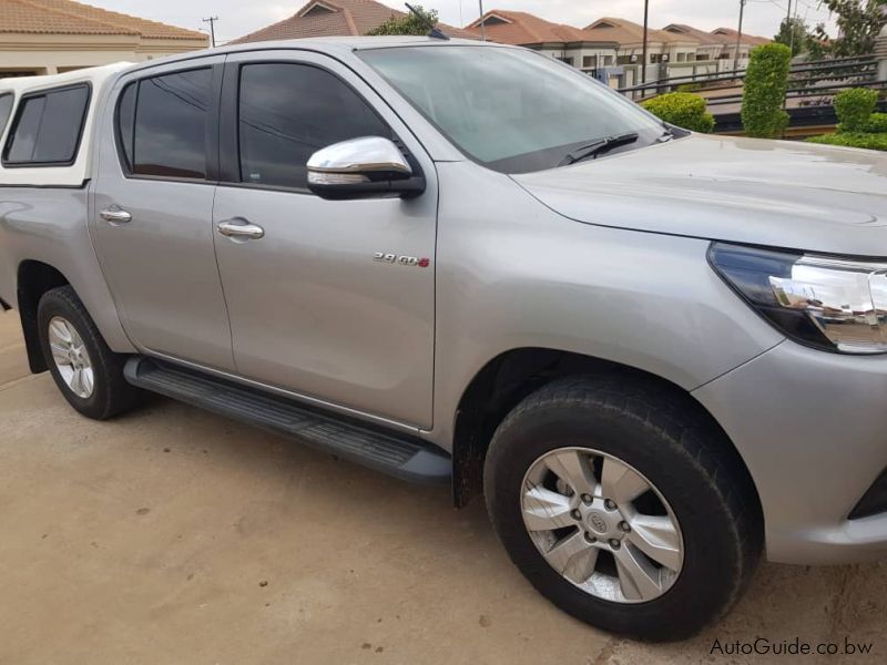
[[[322,69],[293,63],[246,64],[239,90],[241,181],[307,186],[312,154],[391,130],[346,83]]]

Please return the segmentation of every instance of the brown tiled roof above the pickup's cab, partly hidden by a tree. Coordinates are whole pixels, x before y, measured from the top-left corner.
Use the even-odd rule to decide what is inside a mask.
[[[288,19],[235,39],[232,43],[305,37],[357,37],[378,28],[391,17],[402,16],[402,11],[375,0],[310,0]],[[443,23],[438,27],[450,37],[473,37]]]

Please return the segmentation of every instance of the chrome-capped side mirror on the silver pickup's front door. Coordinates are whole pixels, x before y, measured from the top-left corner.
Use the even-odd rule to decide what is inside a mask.
[[[412,168],[392,141],[365,136],[334,143],[308,160],[308,190],[322,198],[418,196],[425,178]]]

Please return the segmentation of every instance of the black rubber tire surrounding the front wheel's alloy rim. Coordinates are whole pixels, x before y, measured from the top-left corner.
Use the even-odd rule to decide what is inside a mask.
[[[624,377],[554,381],[502,421],[485,462],[493,526],[530,583],[581,621],[655,642],[690,637],[721,618],[747,585],[763,548],[759,504],[738,454],[697,409],[666,396],[659,385]],[[631,464],[671,505],[684,559],[659,597],[630,604],[587,593],[530,539],[520,504],[524,474],[544,453],[569,447],[593,448]]]

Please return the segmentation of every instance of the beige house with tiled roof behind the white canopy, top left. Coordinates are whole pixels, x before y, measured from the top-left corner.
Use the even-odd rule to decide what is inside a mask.
[[[139,62],[207,45],[203,32],[72,0],[0,0],[0,78]]]

